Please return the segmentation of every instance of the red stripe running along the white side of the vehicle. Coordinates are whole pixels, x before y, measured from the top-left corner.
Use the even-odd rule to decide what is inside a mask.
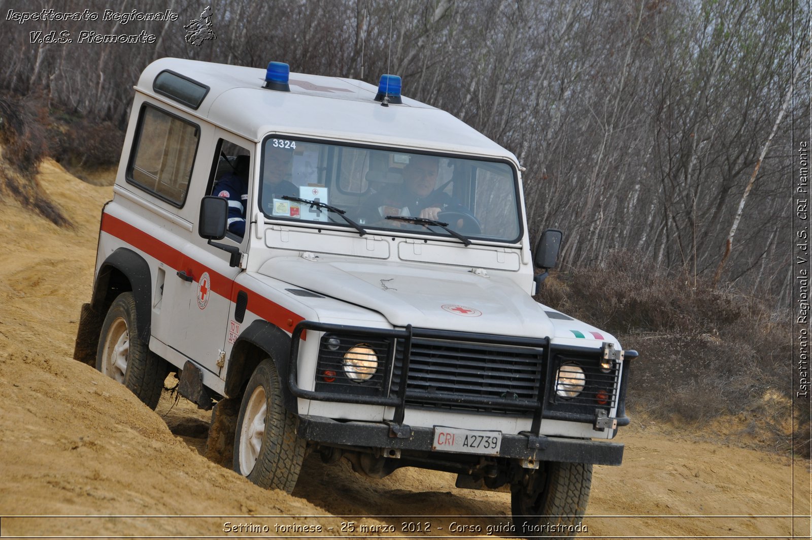
[[[127,242],[127,244],[133,246],[136,250],[143,251],[147,255],[158,259],[173,270],[183,270],[187,273],[191,270],[195,282],[200,279],[203,272],[209,272],[211,290],[223,298],[230,298],[232,303],[237,301],[237,293],[240,290],[244,290],[248,294],[248,307],[250,307],[248,311],[267,320],[271,324],[279,326],[281,329],[292,332],[296,324],[304,320],[304,317],[297,315],[286,307],[280,306],[278,303],[271,302],[268,298],[265,298],[253,290],[233,286],[234,282],[228,277],[223,276],[219,272],[215,272],[213,269],[208,268],[194,259],[189,259],[183,252],[166,245],[164,242],[158,240],[158,238],[133,227],[123,220],[119,220],[117,217],[110,216],[110,214],[103,214],[102,231],[119,238],[119,240],[123,242]],[[304,333],[302,333],[302,339],[304,339]]]

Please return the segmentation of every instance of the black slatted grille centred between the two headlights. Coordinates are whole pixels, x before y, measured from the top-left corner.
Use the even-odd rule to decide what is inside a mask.
[[[406,403],[412,406],[529,413],[543,386],[541,347],[412,337]],[[391,394],[400,388],[404,342],[396,347]],[[472,401],[477,403],[466,403]],[[484,400],[484,401],[483,401]],[[490,405],[489,400],[510,400]]]

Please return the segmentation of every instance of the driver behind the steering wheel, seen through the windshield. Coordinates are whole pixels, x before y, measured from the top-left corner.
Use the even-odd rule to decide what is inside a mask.
[[[412,216],[428,220],[437,220],[443,211],[469,213],[451,195],[442,190],[435,190],[439,172],[439,159],[430,155],[412,155],[408,165],[403,169],[403,185],[389,186],[372,194],[361,207],[361,223],[379,223],[387,216]],[[462,226],[457,220],[457,227]],[[389,221],[395,227],[398,221]]]

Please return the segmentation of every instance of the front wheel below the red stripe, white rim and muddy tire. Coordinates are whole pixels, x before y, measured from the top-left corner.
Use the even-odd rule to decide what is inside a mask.
[[[257,486],[293,491],[304,459],[299,420],[285,410],[279,373],[263,360],[245,388],[234,438],[234,470]]]

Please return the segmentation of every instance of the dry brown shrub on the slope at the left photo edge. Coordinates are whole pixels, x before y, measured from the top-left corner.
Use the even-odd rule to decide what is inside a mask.
[[[10,194],[57,225],[70,225],[61,210],[45,198],[37,168],[45,157],[45,115],[35,98],[0,95],[0,192]]]

